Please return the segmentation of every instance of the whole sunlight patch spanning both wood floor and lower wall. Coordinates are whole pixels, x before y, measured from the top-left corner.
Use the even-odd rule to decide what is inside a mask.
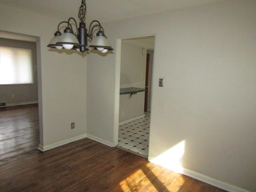
[[[147,190],[150,191],[178,191],[185,180],[182,175],[175,172],[183,172],[182,157],[184,151],[185,140],[151,160],[152,163],[161,167],[152,167],[154,164],[148,163],[122,180],[119,183],[120,187],[123,191],[139,191],[146,185]],[[174,172],[170,173],[170,171],[164,170],[165,168]],[[161,174],[167,174],[167,176],[161,176]],[[173,178],[173,180],[170,181],[169,178]],[[152,179],[154,182],[151,182]]]

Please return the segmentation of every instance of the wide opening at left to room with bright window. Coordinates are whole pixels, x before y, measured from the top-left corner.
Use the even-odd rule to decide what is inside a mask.
[[[4,101],[1,102],[4,106],[0,107],[0,135],[2,136],[0,160],[3,160],[37,150],[40,143],[38,114],[38,90],[41,89],[38,82],[40,38],[0,31],[0,40],[2,56],[9,58],[5,60],[6,63],[16,66],[10,69],[2,65],[2,69],[6,69],[4,71],[8,74],[0,83],[0,101]],[[22,63],[23,73],[18,73],[20,63]],[[20,74],[19,79],[10,75],[16,74],[15,72]],[[16,78],[16,81],[11,77]]]

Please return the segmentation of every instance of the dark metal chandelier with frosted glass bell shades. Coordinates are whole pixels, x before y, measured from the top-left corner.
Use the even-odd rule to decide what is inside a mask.
[[[78,18],[80,20],[79,27],[77,26],[76,20],[72,17],[68,21],[62,21],[58,24],[57,31],[54,33],[54,37],[47,45],[50,48],[56,49],[75,49],[80,52],[88,51],[87,48],[87,38],[92,39],[92,43],[89,47],[99,50],[102,53],[106,53],[108,50],[114,50],[108,39],[104,34],[104,29],[98,20],[93,20],[90,23],[89,30],[87,32],[86,24],[84,22],[86,15],[86,2],[82,0],[81,6],[78,12]],[[74,21],[74,24],[71,23]],[[64,33],[60,32],[60,25],[66,23],[67,27],[64,29]],[[96,23],[96,24],[95,24]],[[73,27],[76,27],[76,32],[74,32]],[[93,36],[94,29],[98,28],[96,37]]]

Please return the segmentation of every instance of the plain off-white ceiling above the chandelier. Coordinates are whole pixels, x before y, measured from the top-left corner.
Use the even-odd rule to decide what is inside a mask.
[[[87,21],[110,22],[224,0],[86,0]],[[77,19],[81,0],[0,0],[0,3],[61,20]]]

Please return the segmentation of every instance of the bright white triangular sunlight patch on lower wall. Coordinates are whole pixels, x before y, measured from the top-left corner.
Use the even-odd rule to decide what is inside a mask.
[[[176,144],[166,152],[151,160],[152,163],[163,166],[178,173],[183,173],[182,157],[185,151],[185,140]]]

